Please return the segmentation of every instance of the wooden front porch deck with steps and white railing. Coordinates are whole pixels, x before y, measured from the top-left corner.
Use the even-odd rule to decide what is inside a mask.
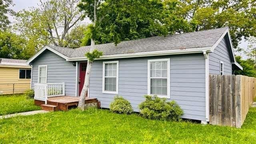
[[[36,83],[34,84],[34,104],[41,106],[42,110],[57,111],[68,110],[78,106],[79,97],[65,95],[65,83]],[[94,104],[100,108],[96,98],[86,98],[85,104]]]

